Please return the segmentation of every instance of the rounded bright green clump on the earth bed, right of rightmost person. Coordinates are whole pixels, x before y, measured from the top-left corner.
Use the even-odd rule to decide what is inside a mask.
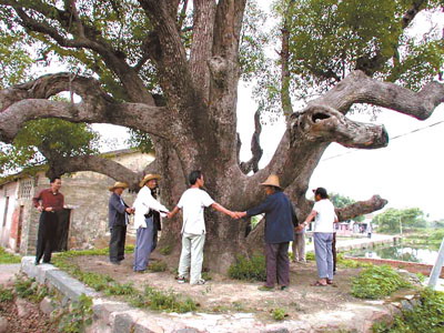
[[[352,294],[359,299],[376,300],[408,285],[391,266],[372,266],[352,279]]]

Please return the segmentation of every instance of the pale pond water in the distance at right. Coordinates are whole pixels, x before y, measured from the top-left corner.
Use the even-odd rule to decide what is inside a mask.
[[[437,252],[437,250],[400,244],[384,248],[353,250],[346,252],[346,255],[356,258],[401,260],[433,265],[436,262]]]

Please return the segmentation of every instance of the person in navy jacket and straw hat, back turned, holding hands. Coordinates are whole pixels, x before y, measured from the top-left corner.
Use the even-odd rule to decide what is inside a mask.
[[[260,290],[271,291],[276,282],[281,290],[290,284],[289,245],[294,240],[297,218],[290,199],[282,192],[279,176],[271,174],[264,186],[266,199],[255,208],[239,212],[238,216],[254,216],[265,213],[266,283]]]

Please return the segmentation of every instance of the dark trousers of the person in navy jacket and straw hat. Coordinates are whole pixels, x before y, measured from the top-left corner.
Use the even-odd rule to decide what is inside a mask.
[[[289,244],[265,244],[266,286],[274,287],[276,282],[285,286],[290,284]]]

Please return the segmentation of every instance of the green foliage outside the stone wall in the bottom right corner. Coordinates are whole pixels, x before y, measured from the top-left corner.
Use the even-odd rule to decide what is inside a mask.
[[[420,304],[404,310],[393,323],[373,325],[375,333],[444,332],[444,293],[425,289],[418,297]]]

